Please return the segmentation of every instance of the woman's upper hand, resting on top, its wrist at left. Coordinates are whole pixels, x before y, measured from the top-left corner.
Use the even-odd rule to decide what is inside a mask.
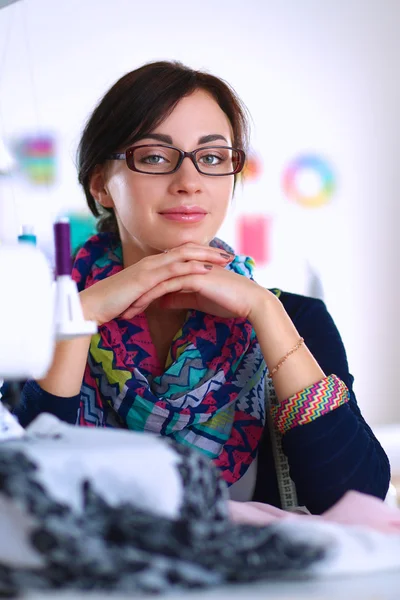
[[[80,292],[86,319],[98,325],[116,317],[130,319],[160,296],[169,280],[210,273],[210,267],[227,265],[232,256],[219,248],[188,243],[169,252],[147,256],[119,273]],[[221,269],[223,270],[223,269]],[[151,294],[148,302],[136,301]]]

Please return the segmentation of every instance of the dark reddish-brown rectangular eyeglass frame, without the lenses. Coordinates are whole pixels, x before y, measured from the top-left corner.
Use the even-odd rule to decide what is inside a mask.
[[[180,156],[176,167],[171,171],[164,171],[163,173],[150,173],[149,171],[141,171],[140,169],[135,167],[133,154],[136,148],[169,148],[170,150],[176,150],[177,152],[179,152]],[[212,148],[222,148],[224,150],[234,150],[235,152],[237,152],[239,155],[239,161],[236,168],[229,173],[204,173],[204,171],[201,171],[197,163],[196,155],[198,152],[203,152],[204,150],[210,150]],[[240,171],[242,171],[244,163],[246,161],[245,152],[243,150],[239,150],[239,148],[233,148],[232,146],[204,146],[202,148],[196,148],[196,150],[193,150],[193,152],[185,152],[184,150],[180,150],[175,146],[167,146],[165,144],[141,144],[140,146],[130,146],[125,150],[125,152],[115,152],[114,154],[110,154],[107,157],[107,160],[126,160],[128,169],[130,169],[131,171],[136,171],[137,173],[144,173],[145,175],[171,175],[172,173],[176,173],[176,171],[181,167],[183,160],[186,157],[190,158],[190,160],[196,167],[196,170],[201,175],[207,175],[209,177],[226,177],[227,175],[236,175],[237,173],[240,173]]]

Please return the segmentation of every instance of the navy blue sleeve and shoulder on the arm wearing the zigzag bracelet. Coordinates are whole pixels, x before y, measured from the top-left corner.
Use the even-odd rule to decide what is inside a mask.
[[[348,490],[385,498],[389,461],[357,405],[345,348],[332,317],[321,300],[282,294],[281,301],[325,374],[337,375],[350,392],[346,404],[283,436],[299,502],[321,514]]]

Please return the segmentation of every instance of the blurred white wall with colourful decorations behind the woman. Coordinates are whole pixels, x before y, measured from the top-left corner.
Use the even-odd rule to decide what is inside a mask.
[[[10,4],[0,10],[0,243],[32,225],[52,261],[56,217],[70,216],[74,246],[91,233],[76,147],[121,75],[160,59],[210,71],[252,117],[220,237],[254,255],[261,284],[326,302],[364,416],[400,423],[399,30],[399,0]]]

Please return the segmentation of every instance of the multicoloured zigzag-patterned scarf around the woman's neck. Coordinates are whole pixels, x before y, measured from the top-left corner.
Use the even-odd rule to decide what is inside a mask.
[[[211,246],[232,252],[215,238]],[[226,268],[252,278],[251,258]],[[123,268],[118,239],[101,233],[79,251],[78,289]],[[188,311],[161,366],[144,313],[117,318],[91,341],[78,424],[152,431],[214,460],[225,481],[238,481],[257,454],[265,424],[266,365],[251,324]]]

